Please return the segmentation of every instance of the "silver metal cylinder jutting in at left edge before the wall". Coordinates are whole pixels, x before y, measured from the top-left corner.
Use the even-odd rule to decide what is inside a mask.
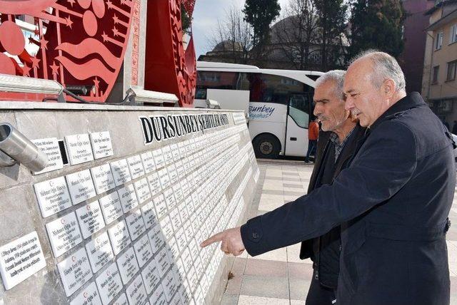
[[[0,150],[32,172],[48,164],[48,156],[9,123],[0,123]]]

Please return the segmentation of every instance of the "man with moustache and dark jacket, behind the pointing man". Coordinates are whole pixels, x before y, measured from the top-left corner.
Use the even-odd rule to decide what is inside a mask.
[[[343,82],[346,71],[328,71],[316,81],[314,115],[321,121],[316,165],[308,194],[321,185],[331,185],[353,156],[365,128],[356,124],[344,109]],[[332,305],[336,299],[340,262],[341,228],[301,243],[300,258],[311,257],[313,278],[306,305]]]

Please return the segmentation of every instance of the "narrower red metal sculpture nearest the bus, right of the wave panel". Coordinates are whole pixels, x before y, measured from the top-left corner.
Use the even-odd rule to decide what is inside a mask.
[[[195,0],[148,1],[144,88],[175,93],[181,107],[194,103],[196,58],[194,38],[184,50],[181,4],[191,19]],[[160,47],[158,47],[160,46]]]

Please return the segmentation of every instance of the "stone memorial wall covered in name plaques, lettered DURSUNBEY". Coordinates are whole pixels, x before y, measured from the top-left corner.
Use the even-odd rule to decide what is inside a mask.
[[[49,157],[0,167],[0,304],[214,304],[259,170],[242,112],[4,103]]]

